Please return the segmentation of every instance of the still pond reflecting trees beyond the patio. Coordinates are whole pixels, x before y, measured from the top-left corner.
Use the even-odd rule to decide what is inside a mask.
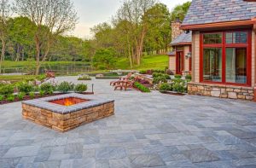
[[[88,62],[74,62],[74,63],[55,63],[45,64],[40,67],[40,74],[44,74],[45,71],[50,70],[59,75],[76,74],[83,72],[91,72],[93,69]],[[35,67],[3,67],[2,72],[4,74],[27,74],[35,72]]]

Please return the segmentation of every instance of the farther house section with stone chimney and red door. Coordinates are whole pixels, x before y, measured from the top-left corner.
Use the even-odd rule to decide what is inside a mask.
[[[192,33],[183,32],[180,29],[182,22],[175,20],[172,22],[172,52],[169,56],[169,69],[175,74],[186,75],[192,70],[191,42]]]

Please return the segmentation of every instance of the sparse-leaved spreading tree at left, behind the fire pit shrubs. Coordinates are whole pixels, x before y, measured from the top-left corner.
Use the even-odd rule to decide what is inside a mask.
[[[41,61],[49,55],[55,37],[72,31],[78,22],[70,0],[15,0],[15,12],[32,20],[37,26],[34,33],[38,75]]]

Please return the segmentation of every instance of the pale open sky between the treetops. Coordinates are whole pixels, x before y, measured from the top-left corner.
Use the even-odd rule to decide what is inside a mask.
[[[188,0],[159,0],[165,3],[171,10],[177,4],[182,4]],[[78,12],[79,24],[72,33],[79,38],[91,38],[90,27],[99,23],[111,20],[116,14],[123,0],[73,0],[75,9]]]

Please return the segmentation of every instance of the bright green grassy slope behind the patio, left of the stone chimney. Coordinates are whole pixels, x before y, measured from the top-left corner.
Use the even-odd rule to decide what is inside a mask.
[[[148,70],[148,69],[165,69],[168,67],[168,56],[166,55],[150,55],[144,56],[140,66],[130,67],[127,58],[120,59],[116,64],[116,69],[135,69],[135,70]]]

